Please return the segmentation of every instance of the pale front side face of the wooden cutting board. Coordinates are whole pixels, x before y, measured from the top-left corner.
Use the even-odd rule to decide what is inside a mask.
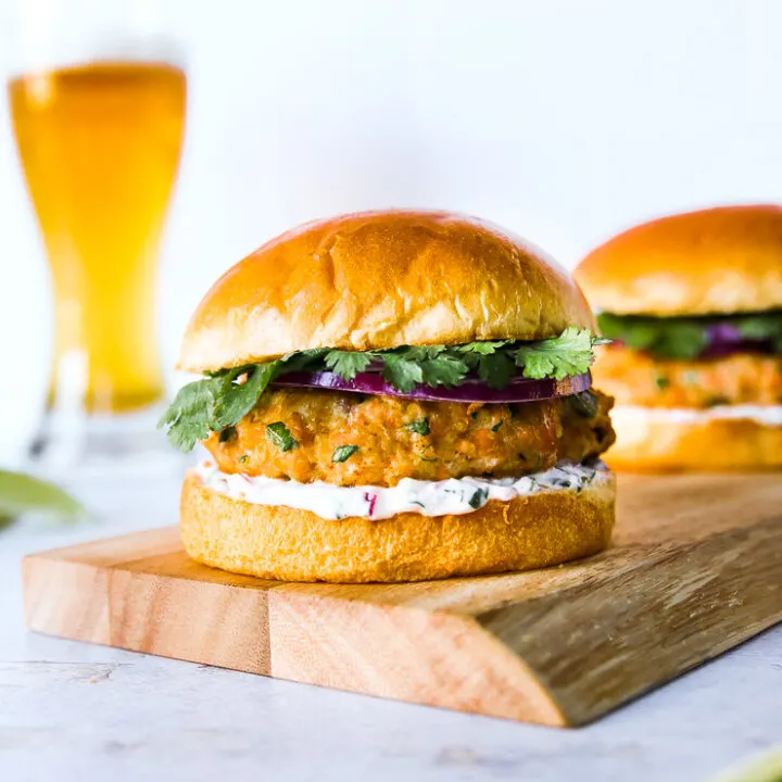
[[[146,551],[155,532],[96,545],[111,553],[126,541]],[[209,580],[151,572],[139,566],[142,559],[103,567],[96,557],[81,560],[89,547],[24,558],[30,630],[409,703],[567,724],[524,660],[470,617],[298,591],[300,584],[207,568],[181,551],[165,556],[184,557]],[[195,603],[209,621],[192,621]]]

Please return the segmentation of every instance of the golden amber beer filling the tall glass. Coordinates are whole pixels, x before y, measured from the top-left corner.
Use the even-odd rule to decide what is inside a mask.
[[[50,407],[75,394],[90,413],[146,407],[163,395],[154,291],[185,74],[99,62],[18,76],[9,97],[53,278]]]

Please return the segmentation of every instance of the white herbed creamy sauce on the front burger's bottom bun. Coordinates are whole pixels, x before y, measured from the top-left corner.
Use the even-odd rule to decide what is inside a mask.
[[[606,480],[603,467],[560,462],[543,472],[521,478],[451,478],[422,481],[403,478],[394,487],[341,487],[324,481],[299,483],[263,476],[228,475],[213,462],[195,468],[203,484],[232,500],[257,505],[285,505],[311,510],[325,519],[348,516],[384,519],[401,513],[421,516],[468,514],[490,500],[508,502],[524,494],[540,491],[581,490]]]

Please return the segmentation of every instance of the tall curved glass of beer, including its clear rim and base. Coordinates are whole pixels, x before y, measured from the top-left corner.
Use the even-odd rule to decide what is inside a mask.
[[[157,250],[186,76],[151,0],[18,0],[8,98],[51,269],[54,348],[33,451],[78,463],[155,449],[164,395]]]

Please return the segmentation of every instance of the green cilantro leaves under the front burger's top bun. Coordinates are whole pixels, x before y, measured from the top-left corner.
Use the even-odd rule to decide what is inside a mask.
[[[289,353],[264,364],[211,373],[188,383],[179,389],[157,426],[167,430],[173,445],[191,451],[211,432],[235,427],[257,404],[268,384],[285,373],[329,369],[352,380],[377,364],[386,381],[402,392],[419,383],[453,388],[470,373],[491,388],[502,389],[516,374],[530,379],[562,379],[585,373],[593,360],[592,346],[604,341],[586,329],[570,327],[559,337],[537,342],[499,340],[363,353],[329,349]]]

